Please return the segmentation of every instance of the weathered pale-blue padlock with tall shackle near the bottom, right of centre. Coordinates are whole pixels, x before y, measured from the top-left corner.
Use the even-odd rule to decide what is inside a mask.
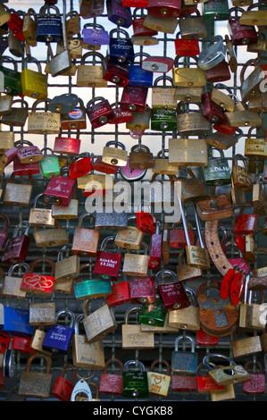
[[[186,340],[191,343],[191,351],[179,351],[179,343],[184,341],[183,346],[186,347]],[[174,351],[171,355],[171,372],[174,374],[196,374],[197,370],[197,353],[195,352],[195,340],[190,335],[179,335],[174,342]]]

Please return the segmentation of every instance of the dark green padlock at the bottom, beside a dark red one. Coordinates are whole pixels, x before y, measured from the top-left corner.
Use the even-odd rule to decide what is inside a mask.
[[[139,370],[128,372],[129,365],[135,365]],[[138,360],[129,360],[123,365],[122,396],[127,398],[148,397],[148,381],[145,365]]]

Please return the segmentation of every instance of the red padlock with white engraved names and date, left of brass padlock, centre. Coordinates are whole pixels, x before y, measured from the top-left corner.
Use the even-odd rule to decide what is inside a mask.
[[[111,281],[116,281],[120,272],[122,254],[107,252],[105,250],[107,242],[112,240],[114,240],[113,236],[104,238],[100,251],[96,255],[93,273],[102,274],[104,277],[111,278]]]

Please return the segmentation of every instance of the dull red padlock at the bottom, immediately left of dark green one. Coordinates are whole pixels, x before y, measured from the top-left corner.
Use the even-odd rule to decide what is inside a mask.
[[[108,374],[107,367],[110,364],[117,363],[120,365],[120,374]],[[122,371],[123,365],[121,360],[114,358],[109,359],[105,363],[104,366],[104,373],[100,376],[100,383],[99,383],[99,392],[103,392],[104,394],[114,394],[114,395],[121,395],[122,394]]]

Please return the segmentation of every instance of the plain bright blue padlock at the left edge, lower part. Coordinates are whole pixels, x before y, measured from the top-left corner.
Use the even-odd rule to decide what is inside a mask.
[[[35,327],[29,325],[29,310],[19,307],[4,307],[4,325],[2,331],[15,335],[32,336]]]

